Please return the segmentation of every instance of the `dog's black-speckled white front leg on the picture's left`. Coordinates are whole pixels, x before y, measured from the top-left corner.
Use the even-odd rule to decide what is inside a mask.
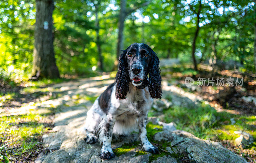
[[[108,114],[103,120],[100,136],[102,136],[102,148],[100,150],[100,157],[102,159],[111,159],[115,157],[111,148],[113,127],[115,124],[115,118],[113,115]]]

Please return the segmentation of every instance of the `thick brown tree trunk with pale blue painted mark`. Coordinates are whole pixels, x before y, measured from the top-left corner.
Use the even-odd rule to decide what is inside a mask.
[[[35,47],[32,80],[59,78],[55,63],[52,34],[52,0],[36,0]]]

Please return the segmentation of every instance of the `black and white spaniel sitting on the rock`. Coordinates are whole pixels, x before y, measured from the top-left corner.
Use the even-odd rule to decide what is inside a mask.
[[[136,130],[142,149],[158,153],[148,141],[146,125],[152,99],[162,96],[161,80],[159,59],[148,45],[133,43],[120,55],[115,83],[96,99],[85,120],[85,140],[93,144],[99,138],[102,159],[115,157],[112,134],[127,135]]]

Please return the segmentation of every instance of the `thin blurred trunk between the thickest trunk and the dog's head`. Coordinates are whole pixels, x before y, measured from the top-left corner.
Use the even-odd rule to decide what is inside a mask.
[[[99,25],[99,18],[98,18],[98,4],[95,5],[95,26],[96,26],[96,44],[97,44],[97,49],[99,53],[99,61],[98,61],[98,66],[100,67],[100,70],[103,71],[103,59],[102,59],[102,54],[101,54],[101,43],[100,43],[100,35],[99,35],[99,30],[100,30],[100,25]]]

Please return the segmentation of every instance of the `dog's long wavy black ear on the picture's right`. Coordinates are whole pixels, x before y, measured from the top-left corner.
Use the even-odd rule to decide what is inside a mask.
[[[149,67],[149,80],[148,80],[148,91],[151,98],[161,98],[161,74],[159,68],[159,59],[156,53],[152,50],[152,58]]]

